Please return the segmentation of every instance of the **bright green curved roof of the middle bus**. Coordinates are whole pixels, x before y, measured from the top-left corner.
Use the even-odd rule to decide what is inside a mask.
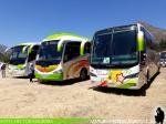
[[[72,34],[72,33],[54,33],[52,35],[46,37],[43,41],[50,41],[50,40],[60,40],[60,39],[66,39],[66,40],[84,40],[87,41],[89,39],[85,37]]]

